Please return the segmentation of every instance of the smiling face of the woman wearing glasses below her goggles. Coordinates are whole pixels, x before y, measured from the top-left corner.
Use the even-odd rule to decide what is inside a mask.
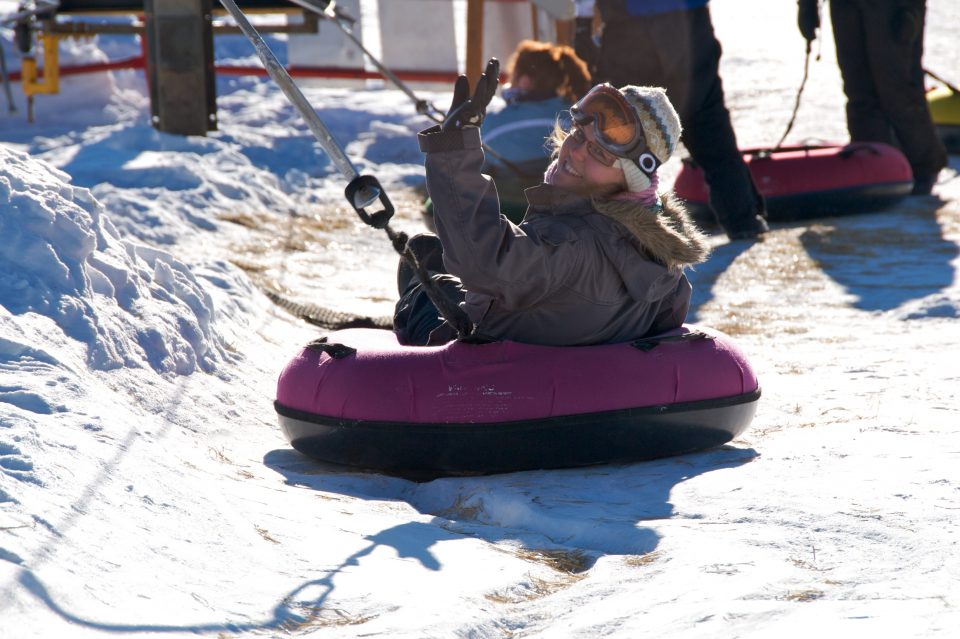
[[[617,157],[597,144],[591,128],[573,125],[560,145],[553,185],[580,195],[611,195],[626,190]]]

